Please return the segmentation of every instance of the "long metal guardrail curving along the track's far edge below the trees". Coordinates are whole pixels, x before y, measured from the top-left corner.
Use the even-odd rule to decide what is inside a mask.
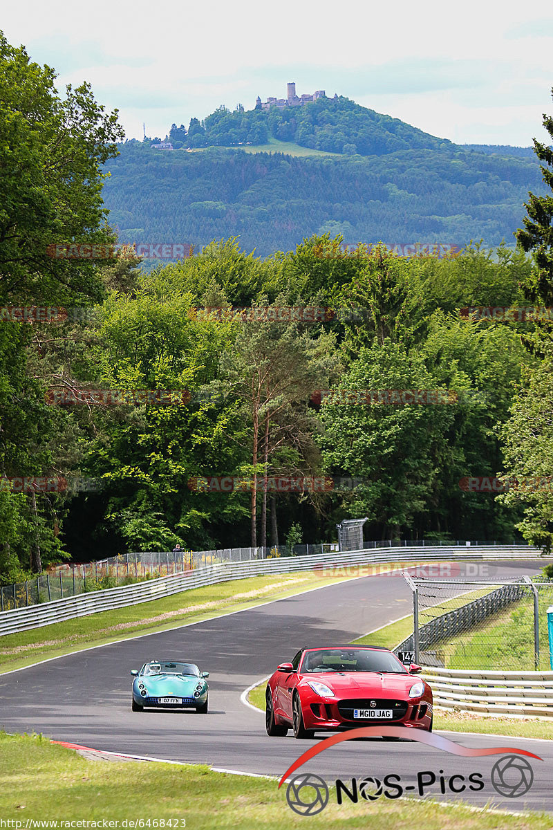
[[[541,551],[526,545],[486,545],[473,547],[457,547],[451,545],[430,548],[401,548],[384,549],[381,553],[358,550],[332,554],[318,554],[298,556],[286,559],[259,559],[235,564],[217,564],[206,568],[196,569],[185,574],[175,574],[160,579],[151,579],[148,582],[126,585],[122,588],[107,588],[102,591],[80,594],[75,597],[57,599],[41,605],[28,608],[13,608],[11,611],[0,613],[0,636],[27,631],[63,620],[83,617],[88,614],[109,611],[114,608],[124,608],[129,605],[145,603],[154,599],[169,596],[172,593],[187,591],[191,588],[203,588],[206,585],[228,582],[232,579],[245,579],[250,576],[263,574],[289,574],[296,571],[329,569],[328,576],[347,575],[339,574],[337,569],[352,565],[376,565],[386,562],[409,563],[410,561],[439,561],[455,559],[467,561],[470,559],[536,559]],[[332,570],[331,570],[332,569]],[[363,576],[362,568],[357,570],[358,576]]]

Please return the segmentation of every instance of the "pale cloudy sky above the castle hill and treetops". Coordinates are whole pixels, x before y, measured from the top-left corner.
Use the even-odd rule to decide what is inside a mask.
[[[67,0],[4,4],[12,45],[89,81],[126,137],[163,138],[257,95],[337,92],[458,144],[546,141],[553,115],[553,3],[512,0]]]

